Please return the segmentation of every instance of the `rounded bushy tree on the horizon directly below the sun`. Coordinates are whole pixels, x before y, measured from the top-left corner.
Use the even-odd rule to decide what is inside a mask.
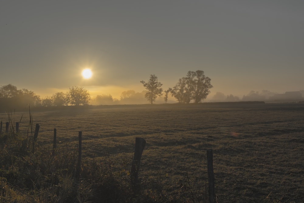
[[[91,99],[88,90],[78,86],[70,87],[65,98],[68,104],[76,106],[88,104]]]

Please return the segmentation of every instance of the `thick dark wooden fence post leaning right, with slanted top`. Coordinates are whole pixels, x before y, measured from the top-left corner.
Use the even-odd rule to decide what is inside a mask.
[[[132,161],[132,168],[131,168],[131,184],[134,193],[138,192],[138,172],[139,172],[139,165],[140,159],[143,154],[143,148],[146,145],[146,141],[143,138],[135,138],[135,151],[134,151],[134,159]]]

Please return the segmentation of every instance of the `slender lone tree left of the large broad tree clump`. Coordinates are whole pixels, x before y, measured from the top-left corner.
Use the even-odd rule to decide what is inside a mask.
[[[157,96],[162,96],[163,89],[160,82],[157,81],[156,75],[150,75],[149,82],[144,82],[143,80],[140,81],[143,86],[148,90],[148,92],[145,94],[145,98],[153,104]]]

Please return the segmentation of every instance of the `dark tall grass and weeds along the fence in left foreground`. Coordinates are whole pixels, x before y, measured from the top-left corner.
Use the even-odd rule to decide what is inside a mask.
[[[23,115],[22,115],[23,116]],[[20,118],[20,123],[22,120]],[[130,186],[130,160],[116,163],[110,157],[98,163],[82,160],[76,173],[78,151],[47,151],[33,142],[33,115],[27,134],[16,134],[12,112],[9,132],[0,135],[0,202],[185,202],[193,197],[172,198],[162,188],[162,177],[142,180],[140,193]],[[35,150],[32,150],[35,148]],[[115,165],[115,166],[114,166]],[[119,165],[119,166],[117,166]],[[113,168],[119,170],[113,170]],[[191,192],[191,187],[181,193]]]

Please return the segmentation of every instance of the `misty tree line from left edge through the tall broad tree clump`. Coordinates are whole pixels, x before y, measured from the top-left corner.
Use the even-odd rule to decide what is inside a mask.
[[[0,107],[2,109],[24,108],[28,105],[34,107],[50,107],[50,106],[67,106],[67,105],[98,105],[100,102],[105,104],[131,104],[136,100],[139,103],[145,103],[146,98],[151,104],[155,102],[158,96],[165,93],[164,101],[167,103],[168,94],[171,94],[178,103],[199,103],[206,99],[210,93],[212,85],[211,79],[204,75],[203,71],[189,71],[186,77],[178,80],[177,84],[172,88],[163,91],[162,83],[158,82],[156,75],[150,75],[149,81],[140,81],[146,90],[141,93],[136,93],[134,90],[122,92],[120,102],[109,95],[97,95],[91,98],[90,93],[83,87],[73,86],[68,89],[66,93],[57,92],[52,96],[40,98],[33,91],[27,89],[17,89],[12,84],[0,87]]]

